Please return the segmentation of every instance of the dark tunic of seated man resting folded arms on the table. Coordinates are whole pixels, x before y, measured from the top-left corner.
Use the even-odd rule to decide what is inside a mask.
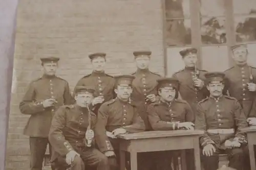
[[[147,107],[147,113],[154,130],[175,130],[173,123],[195,120],[191,107],[182,99],[175,99],[170,104],[159,100]]]

